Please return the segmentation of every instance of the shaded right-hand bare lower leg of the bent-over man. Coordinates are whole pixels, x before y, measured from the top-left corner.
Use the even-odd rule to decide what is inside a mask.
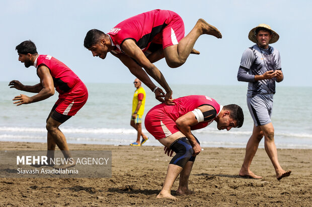
[[[190,190],[188,187],[189,177],[192,170],[194,162],[188,161],[182,172],[180,173],[179,187],[176,191],[177,195],[189,195],[194,194],[195,192]]]

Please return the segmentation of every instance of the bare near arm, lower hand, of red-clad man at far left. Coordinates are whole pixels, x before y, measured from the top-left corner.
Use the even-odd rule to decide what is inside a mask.
[[[14,104],[17,104],[17,106],[19,106],[22,104],[34,103],[37,101],[47,99],[54,94],[54,84],[52,76],[50,74],[50,70],[46,66],[40,66],[38,68],[37,73],[40,78],[40,84],[42,86],[39,93],[31,97],[28,97],[24,94],[20,94],[20,96],[16,96],[13,99],[14,101],[16,101],[13,102]]]

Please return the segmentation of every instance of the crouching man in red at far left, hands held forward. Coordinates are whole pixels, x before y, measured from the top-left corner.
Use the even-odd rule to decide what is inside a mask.
[[[42,101],[54,95],[54,87],[59,93],[58,100],[46,120],[47,135],[47,157],[48,161],[54,158],[55,145],[58,146],[66,159],[71,158],[66,138],[58,128],[62,123],[75,115],[87,102],[88,90],[80,78],[74,74],[65,64],[49,55],[38,55],[35,44],[32,41],[24,41],[16,46],[19,61],[24,63],[26,68],[34,66],[37,68],[37,75],[40,83],[34,86],[25,86],[19,81],[10,82],[10,88],[37,93],[28,97],[24,94],[16,96],[14,104],[34,103]],[[71,159],[70,159],[71,160]],[[65,169],[73,167],[74,162],[53,166],[54,168]],[[36,167],[42,165],[33,165]],[[50,163],[52,166],[52,163]]]

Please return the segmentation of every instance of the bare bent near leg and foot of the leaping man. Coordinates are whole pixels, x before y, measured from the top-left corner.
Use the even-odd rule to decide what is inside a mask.
[[[177,68],[183,65],[190,53],[192,51],[195,52],[193,50],[195,42],[199,36],[203,34],[212,35],[216,38],[222,38],[218,29],[209,25],[205,20],[199,19],[191,32],[185,36],[178,45],[172,45],[164,49],[168,66],[171,68]]]

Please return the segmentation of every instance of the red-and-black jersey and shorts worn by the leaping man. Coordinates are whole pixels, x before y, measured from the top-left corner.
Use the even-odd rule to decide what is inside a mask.
[[[170,28],[167,26],[170,26]],[[175,39],[171,40],[174,32]],[[133,39],[144,52],[151,42],[163,44],[163,48],[178,44],[184,37],[184,23],[175,12],[152,10],[124,20],[107,34],[112,40],[112,45],[117,47],[116,50],[111,51],[115,54],[121,52],[120,47],[127,39]]]

